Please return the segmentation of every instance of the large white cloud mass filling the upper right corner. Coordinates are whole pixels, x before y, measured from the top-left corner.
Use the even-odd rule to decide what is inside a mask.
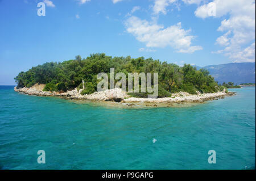
[[[218,27],[224,35],[216,40],[216,44],[225,48],[216,53],[224,53],[235,62],[255,61],[255,0],[214,0],[212,3],[216,5],[216,18],[229,16]],[[195,15],[208,18],[209,9],[209,3],[200,6]]]

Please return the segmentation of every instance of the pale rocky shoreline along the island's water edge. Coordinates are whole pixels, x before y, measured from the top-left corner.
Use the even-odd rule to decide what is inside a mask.
[[[72,90],[67,92],[49,92],[43,91],[45,85],[34,85],[30,88],[23,87],[17,89],[14,87],[14,91],[21,92],[27,95],[36,96],[59,96],[65,99],[79,99],[79,100],[92,100],[92,101],[110,101],[110,102],[122,102],[127,103],[128,106],[132,106],[131,103],[203,103],[207,100],[223,99],[225,96],[236,95],[236,92],[216,92],[208,94],[200,94],[197,92],[196,95],[189,94],[188,92],[177,92],[172,94],[170,98],[134,98],[127,95],[127,92],[122,91],[122,89],[112,89],[101,92],[94,92],[89,95],[81,95],[80,90]],[[153,106],[157,106],[154,104]]]

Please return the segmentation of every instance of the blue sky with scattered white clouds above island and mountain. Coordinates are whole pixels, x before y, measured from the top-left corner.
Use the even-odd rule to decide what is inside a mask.
[[[255,0],[0,0],[0,85],[92,53],[180,66],[255,62]]]

